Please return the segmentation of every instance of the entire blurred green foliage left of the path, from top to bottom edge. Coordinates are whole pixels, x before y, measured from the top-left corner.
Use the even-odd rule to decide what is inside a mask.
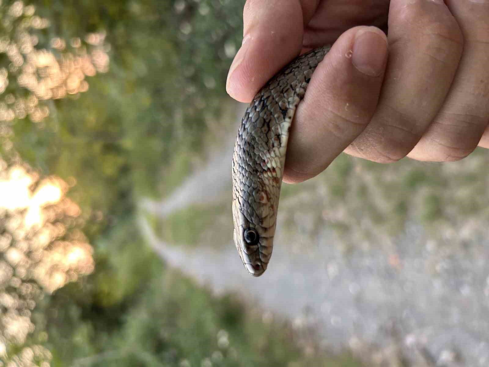
[[[42,125],[12,124],[22,159],[76,183],[96,259],[92,275],[38,304],[29,343],[46,345],[52,366],[354,366],[304,357],[287,324],[211,297],[162,266],[137,230],[138,198],[177,187],[222,115],[244,0],[31,3],[50,21],[38,47],[105,32],[111,61],[88,92],[46,102]]]

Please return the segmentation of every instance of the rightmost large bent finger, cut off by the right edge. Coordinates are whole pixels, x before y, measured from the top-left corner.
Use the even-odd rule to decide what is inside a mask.
[[[443,108],[408,155],[423,161],[456,161],[478,144],[489,148],[489,1],[446,3],[462,29],[464,54]]]

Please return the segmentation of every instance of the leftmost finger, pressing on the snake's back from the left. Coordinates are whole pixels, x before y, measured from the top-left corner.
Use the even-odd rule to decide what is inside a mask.
[[[247,0],[243,11],[243,44],[229,69],[226,91],[240,102],[256,92],[302,48],[304,23],[317,0]]]

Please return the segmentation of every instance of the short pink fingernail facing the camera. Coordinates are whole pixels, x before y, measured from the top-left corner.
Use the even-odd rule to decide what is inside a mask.
[[[378,76],[382,73],[387,57],[387,38],[380,32],[360,29],[355,36],[352,63],[360,72]]]

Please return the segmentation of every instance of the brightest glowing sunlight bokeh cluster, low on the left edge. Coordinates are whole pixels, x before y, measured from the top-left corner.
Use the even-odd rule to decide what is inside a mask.
[[[92,247],[67,224],[81,210],[66,192],[57,177],[40,179],[24,164],[0,160],[0,355],[34,331],[32,310],[44,292],[94,269]],[[31,366],[39,353],[48,356],[36,347],[23,348],[15,366]]]

